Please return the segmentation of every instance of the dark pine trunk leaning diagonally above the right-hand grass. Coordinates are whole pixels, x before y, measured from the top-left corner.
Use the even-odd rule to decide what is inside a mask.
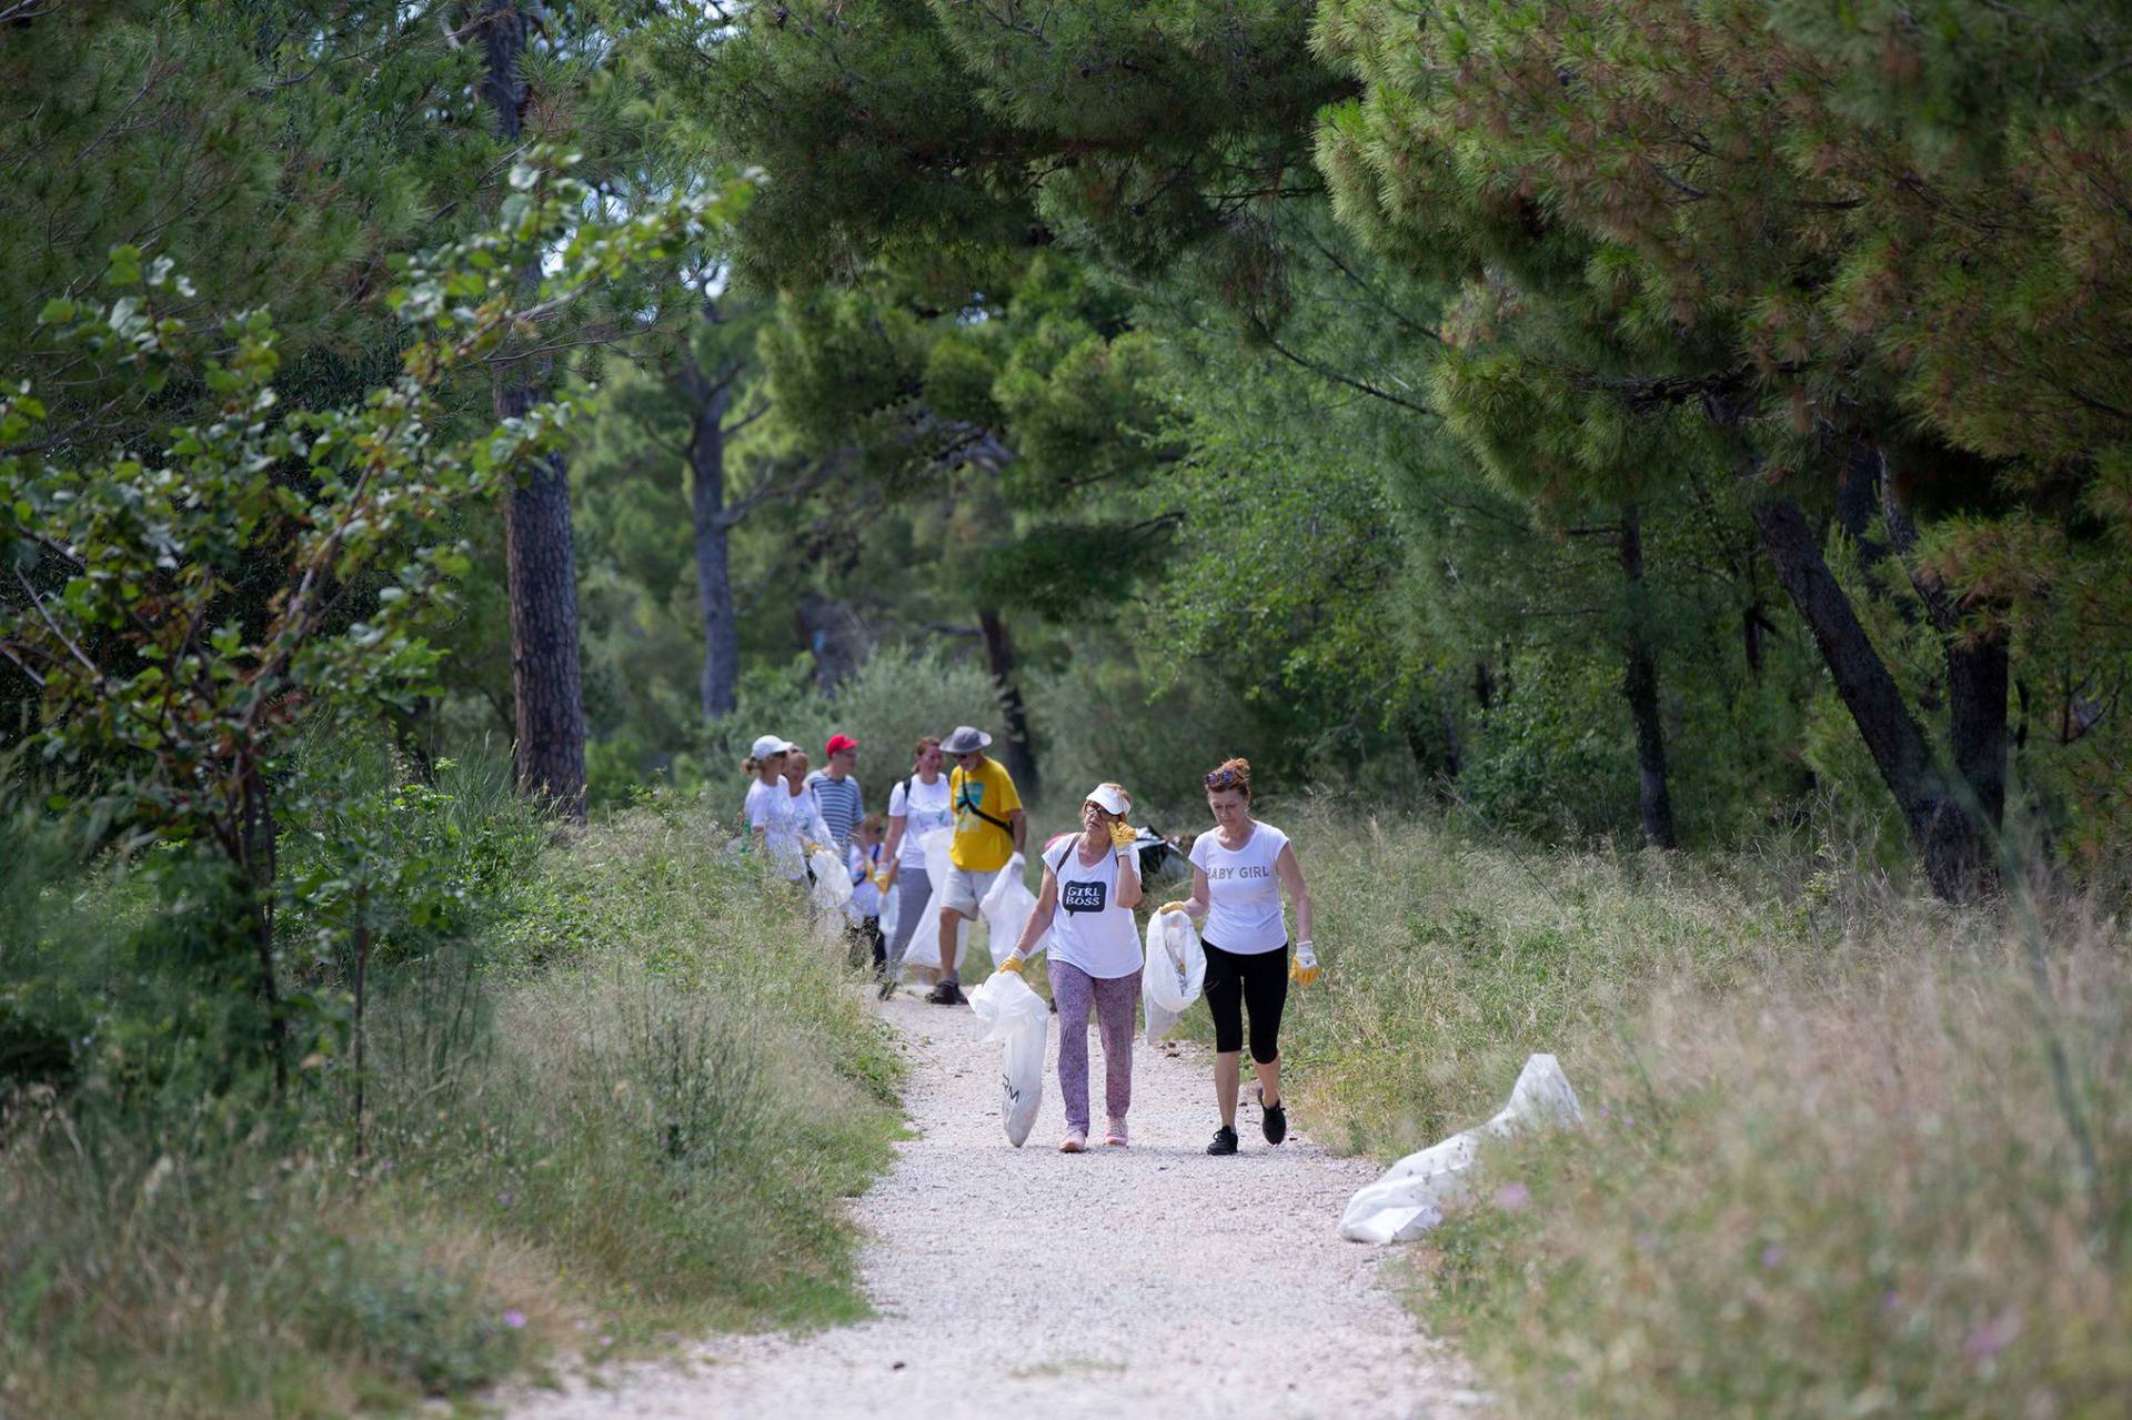
[[[1923,859],[1925,881],[1949,902],[1972,898],[1978,889],[1974,823],[1961,804],[1942,791],[1932,763],[1932,742],[1904,704],[1895,678],[1859,625],[1827,559],[1821,556],[1821,537],[1799,505],[1787,497],[1759,499],[1753,516],[1778,582],[1814,633],[1814,644],[1821,646],[1821,657],[1836,680],[1836,693],[1851,710],[1880,780],[1895,795],[1895,808]],[[2000,687],[2004,691],[2004,680]]]

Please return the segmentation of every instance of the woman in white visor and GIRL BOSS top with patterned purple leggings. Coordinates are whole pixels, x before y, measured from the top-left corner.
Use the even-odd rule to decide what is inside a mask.
[[[1081,832],[1045,849],[1045,887],[1002,972],[1019,972],[1043,940],[1051,972],[1051,1000],[1060,1011],[1060,1100],[1066,1104],[1066,1141],[1060,1153],[1087,1149],[1087,1015],[1102,1032],[1102,1104],[1109,1128],[1102,1143],[1126,1147],[1126,1111],[1132,1109],[1132,1017],[1141,1006],[1141,855],[1132,846],[1132,795],[1119,785],[1096,785],[1081,802]]]

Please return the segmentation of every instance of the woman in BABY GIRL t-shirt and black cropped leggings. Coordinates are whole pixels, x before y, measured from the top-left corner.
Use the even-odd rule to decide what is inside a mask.
[[[1251,817],[1251,763],[1228,759],[1207,774],[1207,808],[1215,832],[1192,842],[1192,898],[1164,902],[1164,913],[1190,913],[1207,947],[1207,1013],[1213,1017],[1213,1100],[1222,1111],[1207,1153],[1237,1151],[1237,1083],[1243,1013],[1251,1015],[1251,1070],[1258,1075],[1260,1128],[1266,1143],[1288,1139],[1281,1104],[1281,1008],[1288,979],[1318,979],[1311,947],[1311,889],[1288,846],[1288,834]],[[1296,904],[1296,959],[1288,962],[1281,889]]]

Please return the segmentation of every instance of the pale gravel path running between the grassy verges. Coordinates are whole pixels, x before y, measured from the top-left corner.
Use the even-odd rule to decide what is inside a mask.
[[[863,1277],[881,1316],[806,1337],[714,1337],[693,1362],[520,1394],[512,1416],[1477,1414],[1454,1358],[1377,1284],[1390,1254],[1332,1232],[1369,1164],[1301,1134],[1269,1147],[1249,1102],[1243,1151],[1209,1158],[1205,1053],[1145,1040],[1130,1149],[1055,1151],[1064,1115],[1049,1066],[1036,1132],[1011,1149],[1000,1047],[979,1040],[976,1017],[910,996],[885,1013],[910,1053],[919,1136],[853,1205],[872,1235]],[[1094,1032],[1089,1055],[1100,1130]]]

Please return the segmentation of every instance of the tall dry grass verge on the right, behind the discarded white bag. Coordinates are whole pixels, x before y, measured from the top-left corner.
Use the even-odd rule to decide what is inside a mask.
[[[2038,987],[2010,917],[1872,874],[1290,827],[1330,962],[1283,1032],[1315,1128],[1392,1158],[1537,1049],[1584,1100],[1414,1254],[1509,1414],[2123,1414],[2115,921],[2045,921]]]

